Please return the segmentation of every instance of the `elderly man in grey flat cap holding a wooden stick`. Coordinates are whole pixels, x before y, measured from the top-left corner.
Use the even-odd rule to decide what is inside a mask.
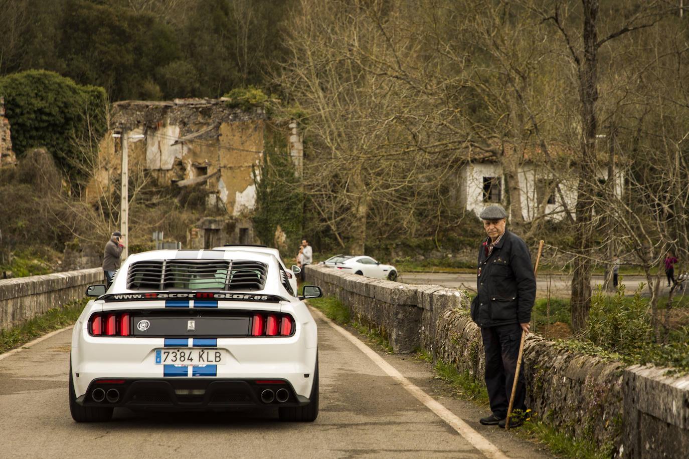
[[[528,247],[505,228],[505,210],[493,204],[480,217],[488,237],[478,252],[477,295],[471,301],[471,319],[481,328],[486,387],[493,412],[480,423],[504,427],[522,330],[528,332],[531,326],[536,279]],[[525,398],[524,372],[520,371],[513,403],[515,414],[526,412]],[[515,416],[510,426],[523,422],[522,416]]]

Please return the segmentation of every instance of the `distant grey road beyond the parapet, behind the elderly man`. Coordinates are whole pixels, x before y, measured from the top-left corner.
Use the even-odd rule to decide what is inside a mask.
[[[476,292],[476,275],[473,273],[401,273],[398,281],[407,284],[435,284]],[[551,297],[568,298],[571,295],[571,282],[571,275],[537,273],[536,298],[546,298],[548,294]],[[591,288],[595,290],[603,282],[602,275],[594,275],[591,278]],[[646,277],[625,275],[621,276],[620,282],[626,286],[626,294],[632,295],[639,283],[644,282],[646,284]],[[666,285],[661,284],[664,291],[669,290]],[[644,292],[647,291],[647,289],[644,290]]]

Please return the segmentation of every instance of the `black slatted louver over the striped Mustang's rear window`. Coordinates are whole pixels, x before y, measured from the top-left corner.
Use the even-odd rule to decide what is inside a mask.
[[[148,260],[132,263],[130,290],[263,290],[268,266],[251,260]]]

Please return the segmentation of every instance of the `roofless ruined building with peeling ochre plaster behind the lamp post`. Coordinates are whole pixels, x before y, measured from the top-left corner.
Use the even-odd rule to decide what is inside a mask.
[[[254,167],[260,170],[263,164],[265,134],[272,131],[285,138],[298,173],[302,137],[296,123],[281,125],[269,120],[261,108],[244,111],[225,102],[177,99],[115,103],[112,130],[101,141],[99,170],[88,184],[87,197],[96,200],[112,189],[114,182],[119,183],[121,136],[127,136],[129,171],[144,169],[161,185],[200,184],[207,191],[207,206],[227,210],[226,218],[205,218],[190,228],[187,241],[182,241],[185,248],[258,242],[247,217],[256,204],[252,171]],[[229,220],[232,225],[227,225]]]

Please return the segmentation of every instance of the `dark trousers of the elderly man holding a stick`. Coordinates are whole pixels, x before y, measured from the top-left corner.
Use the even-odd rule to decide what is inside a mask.
[[[507,407],[512,394],[522,327],[518,323],[483,327],[481,335],[486,351],[486,388],[491,401],[491,411],[498,418],[504,418],[507,416]],[[526,412],[525,399],[526,385],[524,385],[524,364],[522,363],[512,410],[521,409]]]

